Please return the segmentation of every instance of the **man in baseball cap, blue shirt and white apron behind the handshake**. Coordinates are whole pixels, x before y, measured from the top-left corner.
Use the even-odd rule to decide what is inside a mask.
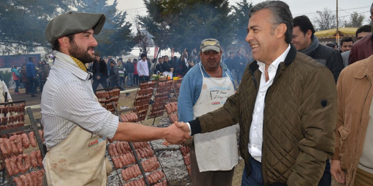
[[[214,111],[234,94],[234,79],[227,66],[220,62],[221,54],[216,39],[201,42],[201,62],[187,72],[180,87],[179,121],[188,122]],[[196,134],[184,145],[191,146],[193,186],[232,185],[234,166],[238,160],[236,126]]]

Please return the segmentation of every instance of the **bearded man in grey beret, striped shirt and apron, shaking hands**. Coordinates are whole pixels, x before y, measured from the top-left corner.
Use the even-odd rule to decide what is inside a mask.
[[[118,122],[96,101],[84,63],[94,61],[97,35],[105,15],[64,13],[53,18],[45,35],[56,51],[44,85],[41,123],[47,153],[44,185],[106,186],[111,165],[105,159],[106,138],[122,141],[167,139],[180,144],[190,138],[174,124],[158,128]]]

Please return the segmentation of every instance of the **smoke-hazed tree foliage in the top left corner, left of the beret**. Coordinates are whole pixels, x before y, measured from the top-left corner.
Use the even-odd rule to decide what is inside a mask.
[[[74,0],[4,0],[0,3],[0,52],[26,53],[49,46],[45,27]]]

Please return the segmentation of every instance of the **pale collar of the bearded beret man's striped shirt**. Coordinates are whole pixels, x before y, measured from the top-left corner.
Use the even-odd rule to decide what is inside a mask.
[[[70,56],[60,53],[60,52],[56,53],[56,60],[54,62],[54,66],[66,68],[73,75],[77,76],[78,78],[82,80],[88,80],[91,76],[90,73],[87,73],[83,71],[82,69],[80,69]]]

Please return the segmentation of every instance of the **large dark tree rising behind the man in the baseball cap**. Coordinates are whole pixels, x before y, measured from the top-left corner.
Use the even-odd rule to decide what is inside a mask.
[[[228,0],[144,0],[147,16],[141,25],[165,49],[199,48],[203,39],[215,38],[221,46],[232,42],[232,15]]]

